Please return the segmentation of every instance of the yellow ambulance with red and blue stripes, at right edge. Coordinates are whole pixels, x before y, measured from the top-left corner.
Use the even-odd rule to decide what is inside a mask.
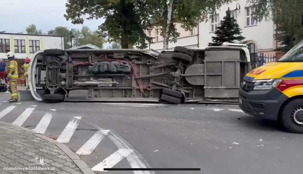
[[[289,132],[303,133],[303,41],[279,61],[245,75],[239,107],[250,115],[281,121]]]

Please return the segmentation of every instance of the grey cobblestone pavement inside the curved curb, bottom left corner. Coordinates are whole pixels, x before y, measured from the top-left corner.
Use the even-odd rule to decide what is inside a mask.
[[[35,160],[38,157],[38,160]],[[40,163],[40,157],[44,159],[44,165],[28,164]],[[55,170],[4,170],[3,168],[27,168],[27,167],[55,167]],[[33,133],[0,123],[0,173],[58,173],[77,174],[82,173],[61,149]]]

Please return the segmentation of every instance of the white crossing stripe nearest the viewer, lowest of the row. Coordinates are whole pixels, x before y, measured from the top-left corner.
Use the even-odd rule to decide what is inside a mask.
[[[123,158],[128,156],[130,153],[132,153],[134,150],[132,149],[119,149],[112,155],[105,158],[102,162],[97,164],[92,168],[93,171],[107,171],[103,170],[104,168],[112,168],[115,166],[119,161],[121,161]]]

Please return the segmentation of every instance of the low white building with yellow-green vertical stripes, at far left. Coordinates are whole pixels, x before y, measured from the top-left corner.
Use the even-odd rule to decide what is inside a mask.
[[[7,59],[8,51],[17,58],[31,58],[36,51],[53,48],[64,49],[63,36],[0,33],[0,59]]]

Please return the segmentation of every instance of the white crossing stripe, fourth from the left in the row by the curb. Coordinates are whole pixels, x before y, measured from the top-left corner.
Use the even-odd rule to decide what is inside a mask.
[[[60,143],[68,143],[74,134],[77,126],[82,117],[73,117],[69,123],[66,125],[65,129],[62,131],[61,135],[58,137],[57,141]]]

